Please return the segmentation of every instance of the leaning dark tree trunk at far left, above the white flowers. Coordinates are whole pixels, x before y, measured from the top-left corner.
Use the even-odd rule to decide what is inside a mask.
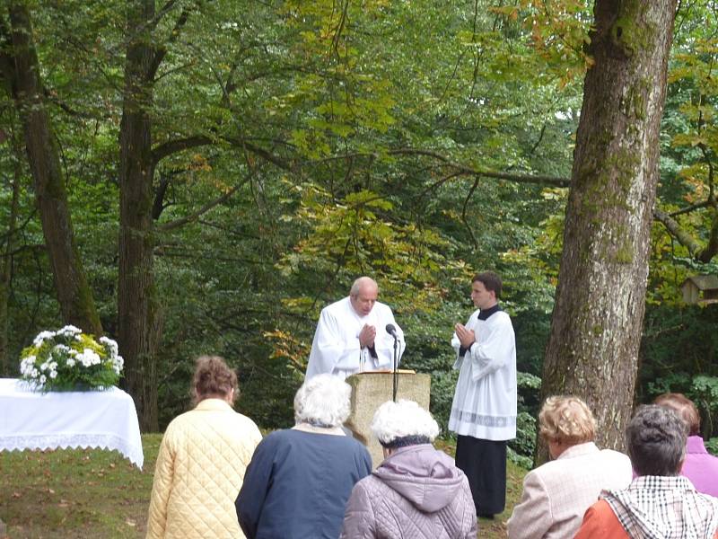
[[[22,2],[10,3],[13,43],[13,89],[35,182],[42,233],[55,278],[63,319],[83,331],[102,334],[100,316],[74,242],[65,182],[57,145],[45,110],[37,53],[32,42],[30,12]]]

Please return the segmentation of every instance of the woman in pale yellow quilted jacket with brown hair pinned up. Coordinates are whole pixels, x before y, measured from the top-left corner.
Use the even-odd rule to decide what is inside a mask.
[[[223,358],[197,359],[197,406],[172,420],[162,437],[147,539],[244,537],[234,499],[262,435],[232,410],[236,390],[237,375]]]

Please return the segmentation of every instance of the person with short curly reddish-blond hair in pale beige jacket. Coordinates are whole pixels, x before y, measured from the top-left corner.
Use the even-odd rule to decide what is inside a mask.
[[[601,490],[628,486],[631,461],[593,443],[596,422],[578,397],[548,397],[538,414],[538,428],[555,460],[524,477],[521,503],[513,508],[508,535],[510,539],[573,537]]]

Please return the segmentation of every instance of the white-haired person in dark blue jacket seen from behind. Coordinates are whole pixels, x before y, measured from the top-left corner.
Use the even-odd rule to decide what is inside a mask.
[[[293,429],[265,437],[235,502],[248,539],[336,539],[355,482],[372,471],[366,448],[341,429],[351,387],[314,376],[294,397]]]

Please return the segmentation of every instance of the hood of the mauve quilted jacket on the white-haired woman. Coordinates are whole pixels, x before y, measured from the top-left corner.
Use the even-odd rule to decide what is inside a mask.
[[[451,456],[431,444],[397,449],[373,475],[425,513],[449,505],[459,495],[464,478]]]

